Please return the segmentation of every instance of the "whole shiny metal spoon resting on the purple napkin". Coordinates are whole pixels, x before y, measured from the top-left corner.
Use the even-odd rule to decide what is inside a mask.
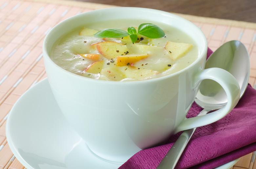
[[[207,59],[205,69],[212,67],[222,68],[236,78],[241,89],[241,98],[245,93],[250,73],[249,54],[245,45],[239,41],[224,43]],[[207,79],[201,82],[195,102],[203,108],[197,115],[201,116],[224,107],[227,104],[227,97],[217,82]],[[182,132],[157,169],[174,169],[195,130],[196,128],[192,128]]]

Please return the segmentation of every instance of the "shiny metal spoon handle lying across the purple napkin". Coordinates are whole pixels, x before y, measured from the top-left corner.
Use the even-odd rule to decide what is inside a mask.
[[[209,111],[210,110],[203,109],[197,116],[207,114]],[[196,128],[191,128],[181,133],[180,137],[164,156],[157,169],[174,169],[195,130]]]

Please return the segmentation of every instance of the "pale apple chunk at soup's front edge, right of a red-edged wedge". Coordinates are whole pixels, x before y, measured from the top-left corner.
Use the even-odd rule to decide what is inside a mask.
[[[102,80],[120,81],[126,78],[125,74],[115,66],[102,69],[100,75]]]

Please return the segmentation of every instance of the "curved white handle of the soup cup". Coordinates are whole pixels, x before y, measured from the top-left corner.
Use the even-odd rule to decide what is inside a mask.
[[[238,103],[240,98],[240,87],[235,77],[229,72],[220,68],[204,69],[199,71],[199,73],[195,76],[194,84],[198,85],[198,83],[204,79],[214,80],[222,86],[227,95],[227,104],[223,108],[209,114],[185,118],[183,121],[181,121],[174,133],[216,122],[225,117]]]

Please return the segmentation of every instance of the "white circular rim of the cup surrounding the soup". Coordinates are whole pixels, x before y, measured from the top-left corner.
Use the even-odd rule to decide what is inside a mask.
[[[93,14],[95,12],[105,12],[105,11],[109,11],[109,10],[139,10],[139,11],[145,11],[145,12],[150,12],[150,13],[158,13],[158,14],[162,14],[162,15],[167,15],[167,16],[171,16],[171,17],[175,17],[177,19],[180,19],[182,20],[183,22],[185,22],[186,24],[189,24],[191,26],[194,26],[195,29],[197,29],[201,35],[202,35],[202,38],[204,40],[204,42],[202,43],[204,46],[203,46],[203,51],[199,53],[199,57],[193,62],[191,63],[189,66],[183,68],[182,70],[178,71],[178,72],[175,72],[175,73],[172,73],[172,74],[169,74],[169,75],[164,75],[164,76],[160,76],[160,77],[157,77],[157,78],[151,78],[151,79],[146,79],[146,80],[134,80],[134,81],[107,81],[107,80],[100,80],[100,79],[94,79],[94,78],[89,78],[89,77],[84,77],[84,76],[80,76],[80,75],[76,75],[74,73],[71,73],[63,68],[61,68],[60,66],[58,66],[56,63],[53,62],[53,60],[50,58],[49,56],[49,53],[47,52],[47,41],[49,38],[51,38],[51,34],[53,33],[54,29],[58,28],[59,26],[62,26],[64,25],[65,23],[67,22],[70,22],[70,20],[73,20],[75,19],[76,17],[81,17],[82,15],[88,15],[88,14]],[[149,19],[150,20],[150,19]],[[72,29],[70,29],[72,30]],[[64,33],[63,33],[64,34]],[[62,34],[62,35],[63,35]],[[56,39],[55,39],[56,40]],[[208,46],[207,46],[207,40],[206,40],[206,37],[205,35],[203,34],[202,30],[196,26],[195,24],[193,24],[192,22],[186,20],[185,18],[182,18],[178,15],[175,15],[175,14],[172,14],[172,13],[169,13],[169,12],[165,12],[165,11],[161,11],[161,10],[158,10],[158,9],[151,9],[151,8],[139,8],[139,7],[113,7],[113,8],[104,8],[104,9],[96,9],[96,10],[92,10],[92,11],[88,11],[88,12],[84,12],[84,13],[80,13],[80,14],[77,14],[75,16],[72,16],[70,18],[67,18],[63,21],[61,21],[60,23],[58,23],[57,25],[53,26],[53,28],[47,33],[47,35],[45,36],[45,39],[43,41],[43,47],[42,47],[42,50],[43,50],[43,58],[44,59],[47,59],[51,62],[51,64],[58,68],[59,70],[61,71],[64,71],[65,73],[67,74],[70,74],[71,76],[76,76],[78,78],[82,78],[82,79],[87,79],[87,80],[96,80],[96,81],[99,81],[99,82],[104,82],[104,83],[143,83],[143,82],[149,82],[149,81],[159,81],[161,79],[166,79],[166,78],[170,78],[172,76],[176,76],[176,75],[179,75],[181,74],[181,72],[184,72],[184,71],[187,71],[188,69],[190,69],[191,67],[193,67],[195,64],[197,64],[201,59],[203,59],[205,57],[206,59],[206,53],[207,53],[207,49],[208,49]]]

